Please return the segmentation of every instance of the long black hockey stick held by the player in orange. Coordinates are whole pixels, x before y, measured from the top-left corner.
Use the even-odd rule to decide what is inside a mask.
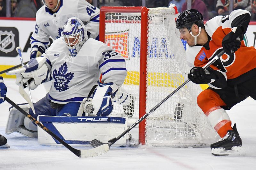
[[[218,60],[220,58],[221,55],[223,55],[225,52],[222,50],[218,55],[216,55],[214,58],[212,58],[211,61],[209,61],[206,65],[204,65],[203,69],[208,68],[212,63],[214,63],[216,60]],[[164,100],[162,100],[160,103],[158,103],[155,107],[153,107],[149,113],[146,113],[145,115],[143,115],[137,122],[135,122],[134,124],[132,124],[128,129],[126,129],[121,135],[119,135],[118,137],[115,137],[113,139],[110,139],[108,141],[108,149],[109,146],[111,146],[112,144],[114,144],[116,141],[118,141],[121,137],[123,137],[126,133],[128,133],[132,128],[134,128],[136,125],[138,125],[141,121],[143,121],[144,119],[146,119],[150,114],[152,114],[158,107],[160,107],[166,100],[168,100],[173,94],[175,94],[176,92],[178,92],[184,85],[186,85],[190,80],[186,80],[183,84],[181,84],[178,88],[176,88],[171,94],[169,94],[166,98],[164,98]],[[105,143],[101,143],[100,141],[95,141],[94,143],[94,147],[97,148],[101,146],[101,144]]]

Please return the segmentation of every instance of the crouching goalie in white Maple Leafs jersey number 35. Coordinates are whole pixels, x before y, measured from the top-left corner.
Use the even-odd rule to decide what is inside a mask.
[[[103,42],[88,39],[86,27],[78,18],[68,19],[61,37],[46,49],[43,57],[32,58],[26,66],[9,72],[16,74],[18,85],[29,81],[32,90],[53,80],[50,92],[34,104],[36,113],[30,108],[29,114],[34,118],[37,115],[83,116],[81,103],[88,97],[92,98],[97,116],[109,115],[113,110],[112,99],[127,74],[124,58]],[[103,83],[98,81],[100,74]],[[91,97],[89,93],[94,85],[98,86]],[[27,117],[24,126],[37,131]]]

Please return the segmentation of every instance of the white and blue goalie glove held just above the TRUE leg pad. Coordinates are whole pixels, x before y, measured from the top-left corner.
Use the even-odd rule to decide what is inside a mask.
[[[108,116],[113,111],[113,101],[118,87],[114,83],[100,83],[92,96],[94,113],[97,116]]]

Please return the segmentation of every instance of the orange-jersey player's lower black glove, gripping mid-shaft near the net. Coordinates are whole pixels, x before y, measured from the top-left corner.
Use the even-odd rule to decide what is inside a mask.
[[[207,70],[204,70],[202,67],[193,67],[188,74],[188,79],[197,85],[208,84],[211,83],[211,79],[216,79],[213,71],[211,67],[208,67]]]

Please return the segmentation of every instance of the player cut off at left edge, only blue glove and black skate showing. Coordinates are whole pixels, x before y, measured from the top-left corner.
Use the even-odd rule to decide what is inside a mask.
[[[0,77],[0,104],[4,102],[4,98],[6,96],[7,87],[4,84],[3,77]],[[0,148],[9,148],[10,146],[7,144],[7,139],[0,135]]]

